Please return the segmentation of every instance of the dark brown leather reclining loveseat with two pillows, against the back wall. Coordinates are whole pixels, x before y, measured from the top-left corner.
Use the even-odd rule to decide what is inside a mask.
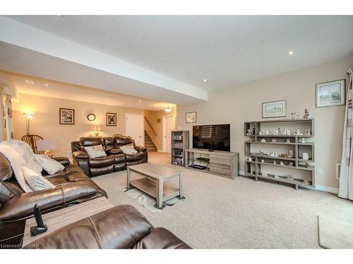
[[[124,154],[119,147],[133,144],[138,153],[135,155]],[[102,145],[106,157],[91,158],[85,146]],[[113,137],[81,137],[79,142],[71,142],[73,164],[80,166],[86,175],[95,177],[107,173],[126,170],[126,166],[147,163],[148,153],[143,146],[136,146],[131,137],[114,134]]]

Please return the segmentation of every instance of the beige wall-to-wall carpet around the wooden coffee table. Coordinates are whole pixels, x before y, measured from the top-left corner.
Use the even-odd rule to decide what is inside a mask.
[[[169,163],[169,156],[162,153],[149,153],[148,158],[152,163]],[[121,191],[126,171],[92,179],[112,203],[135,206],[152,225],[166,227],[197,249],[321,249],[318,215],[345,222],[353,219],[352,201],[323,191],[296,191],[273,182],[228,180],[180,169],[186,200],[160,213],[150,213]]]

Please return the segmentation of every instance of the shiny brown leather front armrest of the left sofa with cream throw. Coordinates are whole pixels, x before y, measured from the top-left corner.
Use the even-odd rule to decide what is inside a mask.
[[[33,207],[37,204],[40,210],[48,210],[65,203],[75,201],[97,192],[95,184],[72,182],[52,189],[30,191],[13,196],[0,210],[0,221],[18,220],[33,215]]]

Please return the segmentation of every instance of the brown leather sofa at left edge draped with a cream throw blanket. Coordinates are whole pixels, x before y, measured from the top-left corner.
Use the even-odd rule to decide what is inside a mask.
[[[0,244],[18,244],[23,237],[25,220],[32,218],[37,203],[42,213],[107,196],[105,191],[70,164],[67,158],[56,158],[65,170],[44,177],[56,187],[25,193],[16,181],[7,158],[0,153]]]

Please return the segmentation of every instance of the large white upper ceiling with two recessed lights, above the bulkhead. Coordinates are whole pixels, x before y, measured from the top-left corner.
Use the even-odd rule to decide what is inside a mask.
[[[353,53],[352,15],[8,18],[204,90],[231,87]],[[289,51],[294,55],[288,56]]]

